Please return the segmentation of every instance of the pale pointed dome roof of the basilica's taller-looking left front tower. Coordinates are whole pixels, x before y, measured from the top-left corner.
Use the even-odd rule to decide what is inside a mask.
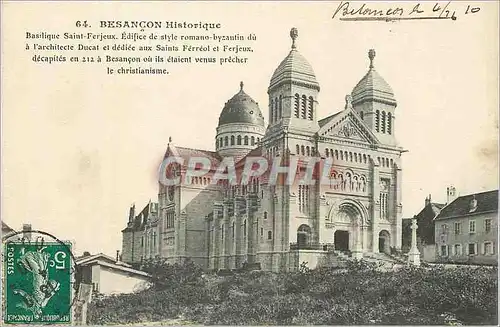
[[[306,58],[297,51],[297,47],[295,46],[297,36],[297,29],[292,28],[290,31],[292,49],[274,71],[269,88],[276,87],[284,82],[294,81],[295,83],[312,87],[319,91],[319,84],[316,80],[316,75],[314,74],[312,66]]]

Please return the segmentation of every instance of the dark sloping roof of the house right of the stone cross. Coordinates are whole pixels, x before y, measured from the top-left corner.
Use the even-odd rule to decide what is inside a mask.
[[[463,195],[445,206],[435,220],[498,212],[498,190]]]

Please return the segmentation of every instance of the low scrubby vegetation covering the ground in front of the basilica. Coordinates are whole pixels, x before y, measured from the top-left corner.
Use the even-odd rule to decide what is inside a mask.
[[[203,274],[192,263],[146,264],[153,286],[89,306],[92,324],[181,317],[210,325],[497,324],[496,268],[381,272],[364,261],[295,273]]]

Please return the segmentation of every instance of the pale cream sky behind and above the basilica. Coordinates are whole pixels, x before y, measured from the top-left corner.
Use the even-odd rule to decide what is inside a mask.
[[[72,240],[78,253],[113,255],[130,205],[157,197],[169,137],[213,150],[220,111],[240,81],[268,121],[267,87],[290,50],[291,27],[321,86],[320,117],[343,109],[368,69],[368,49],[376,50],[375,67],[398,102],[395,135],[408,150],[404,217],[428,194],[446,202],[449,185],[459,194],[497,189],[498,3],[464,15],[467,4],[452,2],[455,21],[352,22],[332,19],[339,2],[2,3],[2,220]],[[257,40],[247,42],[247,64],[176,65],[168,76],[32,62],[26,31],[79,32],[77,20],[220,22],[217,34]]]

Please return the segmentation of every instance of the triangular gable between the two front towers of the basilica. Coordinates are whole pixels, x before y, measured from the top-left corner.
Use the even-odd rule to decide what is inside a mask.
[[[349,139],[369,144],[378,144],[377,137],[361,121],[352,109],[345,109],[335,115],[318,131],[323,138]]]

